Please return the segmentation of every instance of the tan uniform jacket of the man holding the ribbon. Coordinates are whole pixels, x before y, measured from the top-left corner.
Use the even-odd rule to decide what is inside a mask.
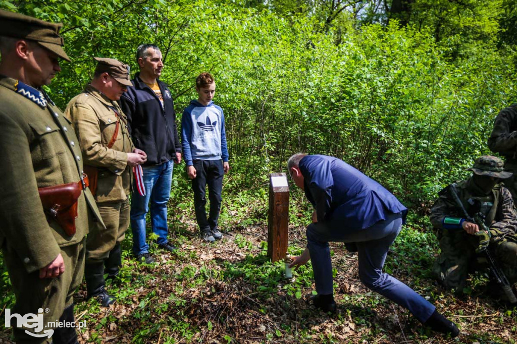
[[[119,105],[92,85],[87,85],[83,93],[68,103],[65,116],[72,121],[79,137],[84,163],[99,170],[95,200],[125,200],[130,193],[132,178],[127,153],[132,152],[134,146],[126,115]],[[117,121],[118,134],[113,146],[108,148]]]

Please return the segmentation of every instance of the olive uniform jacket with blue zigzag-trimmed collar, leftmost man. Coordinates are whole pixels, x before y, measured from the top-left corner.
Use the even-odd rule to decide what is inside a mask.
[[[78,199],[76,232],[67,236],[43,212],[39,187],[79,182],[83,161],[70,122],[43,93],[24,89],[0,76],[0,247],[9,245],[28,273],[60,253],[59,247],[81,242],[93,212],[102,224],[88,189]]]

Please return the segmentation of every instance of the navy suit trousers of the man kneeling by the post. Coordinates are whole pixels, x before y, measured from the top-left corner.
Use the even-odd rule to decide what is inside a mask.
[[[355,243],[359,257],[359,279],[369,289],[408,309],[425,322],[436,307],[413,289],[383,272],[389,246],[402,228],[401,214],[390,214],[366,229],[345,228],[338,216],[307,227],[307,247],[311,255],[314,282],[318,294],[332,294],[332,262],[329,241]]]

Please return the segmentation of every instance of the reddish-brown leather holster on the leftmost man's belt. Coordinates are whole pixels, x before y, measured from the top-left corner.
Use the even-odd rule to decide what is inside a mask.
[[[88,186],[88,176],[83,175],[78,183],[66,183],[40,187],[39,197],[47,219],[55,220],[68,236],[75,234],[77,200],[83,188]]]

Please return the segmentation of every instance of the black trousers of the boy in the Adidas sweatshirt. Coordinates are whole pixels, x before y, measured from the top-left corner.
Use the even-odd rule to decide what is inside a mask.
[[[194,210],[197,225],[201,231],[217,227],[221,210],[221,192],[223,190],[223,161],[194,160],[192,162],[196,177],[192,179],[194,192]],[[208,184],[208,199],[210,200],[209,217],[206,218],[206,185]]]

